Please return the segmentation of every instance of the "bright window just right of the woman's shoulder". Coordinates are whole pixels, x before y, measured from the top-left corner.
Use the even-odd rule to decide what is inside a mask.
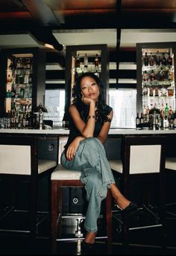
[[[136,128],[136,89],[109,89],[111,128]]]

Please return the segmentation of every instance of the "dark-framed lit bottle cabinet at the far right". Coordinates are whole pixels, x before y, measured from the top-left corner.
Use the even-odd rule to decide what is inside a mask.
[[[175,43],[137,43],[137,112],[175,111]],[[166,113],[165,113],[166,114]]]

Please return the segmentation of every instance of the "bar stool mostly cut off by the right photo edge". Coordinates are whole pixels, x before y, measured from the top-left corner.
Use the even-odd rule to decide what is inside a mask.
[[[166,164],[165,164],[165,170],[166,175],[169,175],[169,178],[172,179],[172,181],[175,181],[176,177],[176,157],[166,157]],[[166,186],[169,188],[168,186]],[[172,195],[175,195],[175,190],[172,193]],[[176,219],[176,212],[172,209],[172,207],[176,205],[176,202],[169,202],[166,203],[166,218],[168,219]]]

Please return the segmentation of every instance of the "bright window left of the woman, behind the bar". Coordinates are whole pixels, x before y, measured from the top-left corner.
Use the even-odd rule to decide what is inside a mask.
[[[48,113],[45,113],[45,120],[52,120],[53,127],[62,127],[63,114],[65,106],[65,90],[45,90],[45,107]]]

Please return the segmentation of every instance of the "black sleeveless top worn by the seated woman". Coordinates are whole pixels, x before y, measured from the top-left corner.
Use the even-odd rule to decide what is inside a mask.
[[[83,119],[84,122],[87,123],[89,107],[87,107],[85,104],[84,104],[84,107],[83,105],[81,106],[75,105],[75,107],[78,109],[81,119]],[[104,107],[104,114],[99,116],[99,118],[95,119],[95,130],[94,130],[93,137],[98,137],[98,134],[100,133],[101,127],[104,125],[104,122],[110,122],[110,119],[108,119],[107,116],[109,115],[111,110],[113,110],[113,108],[106,104],[106,106]],[[82,136],[81,132],[78,131],[78,129],[76,128],[75,123],[73,122],[73,119],[71,116],[69,116],[69,125],[70,125],[69,138],[67,140],[65,149],[68,148],[69,144],[72,143],[75,137]]]

